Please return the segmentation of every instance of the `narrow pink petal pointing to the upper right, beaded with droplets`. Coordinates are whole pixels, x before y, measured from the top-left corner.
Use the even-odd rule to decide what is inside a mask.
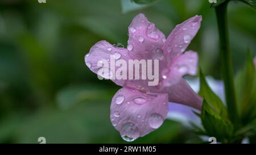
[[[201,15],[193,16],[177,25],[170,33],[164,45],[164,55],[167,57],[168,63],[170,63],[174,57],[179,56],[185,51],[199,30],[201,20]]]

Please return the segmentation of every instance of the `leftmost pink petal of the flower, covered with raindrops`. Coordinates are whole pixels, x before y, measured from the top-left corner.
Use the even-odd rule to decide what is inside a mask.
[[[102,40],[93,45],[93,47],[90,48],[90,52],[85,55],[85,64],[92,70],[92,72],[102,77],[112,79],[117,85],[123,86],[126,82],[125,79],[117,79],[116,77],[113,77],[118,67],[115,67],[114,69],[110,68],[110,56],[113,56],[114,60],[122,59],[126,62],[131,59],[127,49],[114,47],[108,41]],[[105,66],[105,63],[108,64],[108,67]],[[98,64],[101,66],[98,66]],[[127,68],[128,66],[126,69]],[[105,72],[107,74],[103,74],[104,69],[107,71]],[[128,75],[126,76],[126,79],[127,77]]]

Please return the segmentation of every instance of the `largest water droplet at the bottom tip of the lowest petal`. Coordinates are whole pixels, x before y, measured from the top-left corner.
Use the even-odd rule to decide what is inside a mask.
[[[139,129],[131,122],[126,122],[122,125],[120,133],[125,141],[134,141],[139,137]]]

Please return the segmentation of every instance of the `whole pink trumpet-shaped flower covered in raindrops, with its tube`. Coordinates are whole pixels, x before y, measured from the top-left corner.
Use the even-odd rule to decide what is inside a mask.
[[[202,99],[182,78],[197,73],[197,53],[184,51],[199,30],[201,20],[199,15],[185,20],[166,39],[154,23],[139,14],[129,26],[127,48],[99,41],[85,56],[86,65],[94,73],[101,69],[98,62],[109,60],[110,55],[125,61],[159,60],[156,86],[148,86],[148,80],[141,78],[112,79],[122,88],[112,99],[110,119],[124,140],[133,141],[159,128],[167,117],[168,101],[201,109]]]

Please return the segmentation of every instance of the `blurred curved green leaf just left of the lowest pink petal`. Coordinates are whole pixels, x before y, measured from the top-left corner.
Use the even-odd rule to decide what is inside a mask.
[[[111,102],[112,91],[104,89],[102,86],[85,85],[85,86],[68,86],[59,91],[56,95],[57,106],[61,109],[67,109],[74,104],[82,103],[88,100],[95,102],[109,100]]]

